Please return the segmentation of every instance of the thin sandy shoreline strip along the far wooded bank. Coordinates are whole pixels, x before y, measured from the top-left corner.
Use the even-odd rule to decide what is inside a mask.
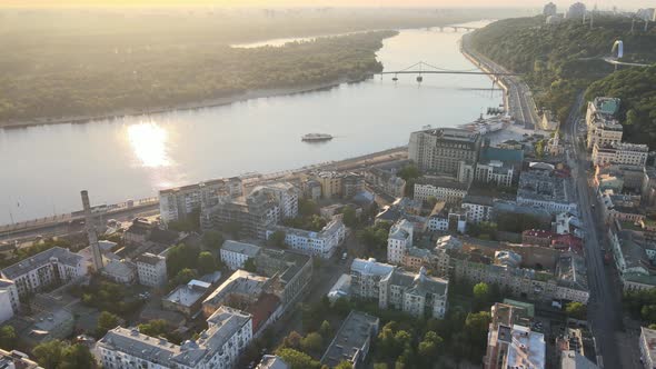
[[[335,87],[338,87],[341,83],[358,83],[367,80],[368,77],[362,77],[359,79],[347,79],[342,78],[332,82],[326,83],[317,83],[311,86],[305,87],[296,87],[296,88],[280,88],[280,89],[261,89],[261,90],[252,90],[247,91],[245,93],[235,94],[225,98],[217,98],[217,99],[208,99],[201,100],[196,102],[188,102],[188,103],[180,103],[176,106],[163,106],[163,107],[153,107],[149,109],[121,109],[116,110],[110,113],[106,114],[96,114],[96,116],[71,116],[71,117],[63,117],[63,118],[34,118],[31,120],[10,120],[10,121],[2,121],[0,122],[0,129],[11,129],[11,128],[26,128],[26,127],[33,127],[33,126],[50,126],[50,124],[64,124],[64,123],[87,123],[93,120],[106,120],[106,119],[117,119],[123,117],[139,117],[139,116],[148,116],[148,114],[156,114],[156,113],[163,113],[163,112],[171,112],[177,110],[196,110],[196,109],[205,109],[205,108],[212,108],[212,107],[220,107],[227,106],[236,102],[242,102],[252,99],[261,99],[261,98],[274,98],[280,96],[291,96],[297,93],[306,93],[312,91],[320,91],[327,90]]]

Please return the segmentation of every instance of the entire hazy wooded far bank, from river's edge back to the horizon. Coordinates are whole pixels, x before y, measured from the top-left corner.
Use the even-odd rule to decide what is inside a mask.
[[[0,10],[0,127],[205,107],[252,91],[278,94],[359,81],[382,69],[376,51],[396,34],[384,30],[484,16],[464,10]],[[284,47],[230,47],[367,30],[378,31]]]

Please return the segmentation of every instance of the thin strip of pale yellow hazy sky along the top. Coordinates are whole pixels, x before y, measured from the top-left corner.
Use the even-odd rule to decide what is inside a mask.
[[[573,3],[573,0],[551,0],[559,7]],[[541,7],[545,0],[0,0],[0,6],[108,6],[108,4],[140,4],[140,6],[190,6],[216,4],[220,7]],[[588,7],[597,4],[600,9],[617,6],[623,9],[653,8],[656,0],[588,0],[582,1]]]

